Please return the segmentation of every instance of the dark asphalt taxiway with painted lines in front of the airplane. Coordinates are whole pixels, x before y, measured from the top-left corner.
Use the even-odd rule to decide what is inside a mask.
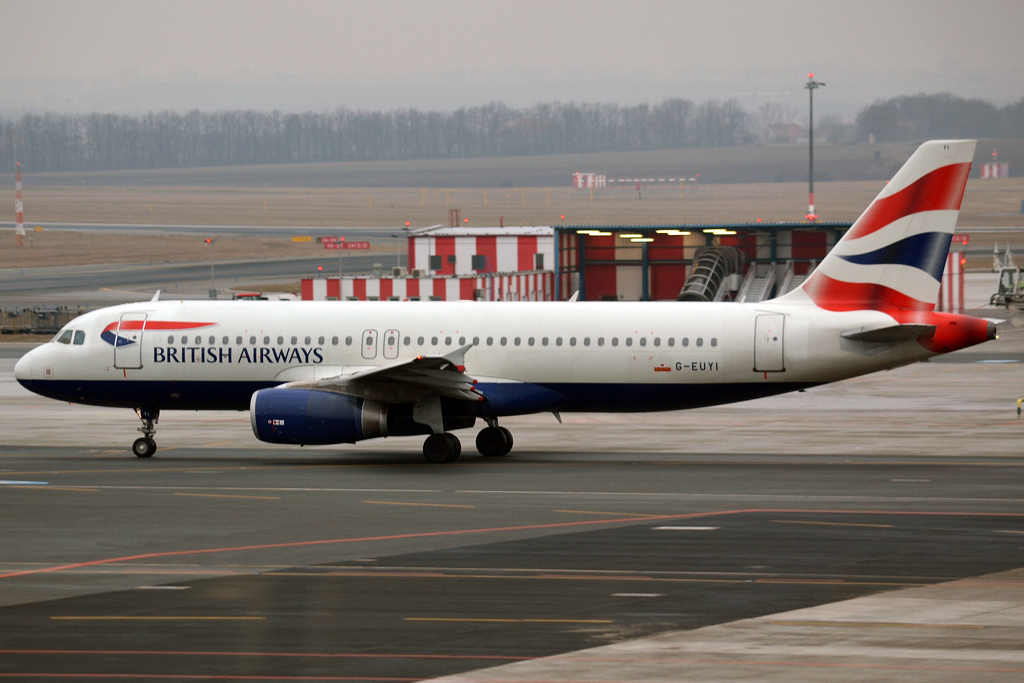
[[[420,680],[999,571],[1022,468],[0,447],[0,673]]]

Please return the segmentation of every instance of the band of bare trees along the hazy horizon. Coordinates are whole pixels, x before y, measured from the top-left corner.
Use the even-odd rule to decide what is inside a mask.
[[[751,114],[735,99],[526,109],[493,102],[450,113],[26,115],[0,119],[0,168],[15,160],[27,170],[78,171],[718,147],[780,141],[779,126],[796,125],[797,117],[776,103]],[[816,130],[833,142],[1024,137],[1024,99],[999,109],[948,94],[900,97],[866,108],[855,124],[822,117]]]

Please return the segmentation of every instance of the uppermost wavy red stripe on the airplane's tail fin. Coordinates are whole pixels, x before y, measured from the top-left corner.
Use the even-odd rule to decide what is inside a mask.
[[[846,239],[881,230],[894,220],[922,211],[959,210],[971,164],[950,164],[924,175],[894,195],[876,200],[857,219]]]

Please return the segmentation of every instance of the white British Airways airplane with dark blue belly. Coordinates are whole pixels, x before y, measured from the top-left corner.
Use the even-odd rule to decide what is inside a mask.
[[[14,368],[59,400],[133,409],[148,458],[161,411],[248,410],[263,441],[353,443],[510,415],[674,411],[746,400],[923,360],[995,338],[934,310],[974,140],[923,144],[794,292],[684,302],[153,301],[72,321]]]

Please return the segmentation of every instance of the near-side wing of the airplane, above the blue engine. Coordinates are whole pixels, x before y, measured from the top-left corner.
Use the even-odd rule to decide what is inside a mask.
[[[321,380],[289,382],[286,387],[334,391],[387,402],[415,402],[430,394],[460,400],[483,400],[474,388],[476,380],[466,374],[467,344],[445,355],[418,355],[350,375]]]

